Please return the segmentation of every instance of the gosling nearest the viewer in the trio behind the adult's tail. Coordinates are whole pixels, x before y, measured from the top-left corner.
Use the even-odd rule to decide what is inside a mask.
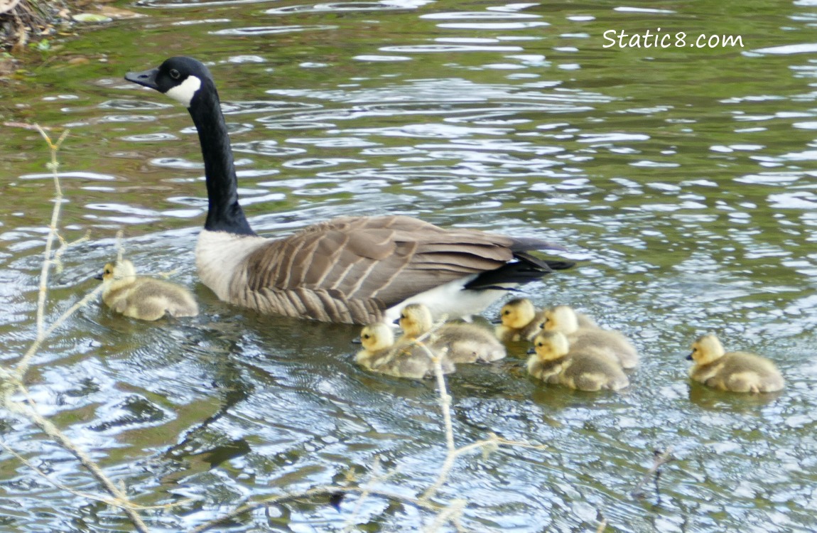
[[[534,338],[528,373],[545,383],[559,383],[580,391],[618,391],[630,381],[618,361],[605,352],[574,350],[560,331],[542,331]]]

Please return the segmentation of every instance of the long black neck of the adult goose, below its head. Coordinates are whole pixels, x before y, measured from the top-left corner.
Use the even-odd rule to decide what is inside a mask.
[[[256,235],[239,205],[230,136],[224,115],[221,114],[218,92],[212,82],[203,83],[188,110],[199,132],[207,180],[208,213],[204,229]]]

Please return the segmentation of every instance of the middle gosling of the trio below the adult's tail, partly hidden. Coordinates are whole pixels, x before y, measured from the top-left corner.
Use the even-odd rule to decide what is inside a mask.
[[[546,309],[542,329],[565,334],[571,349],[583,351],[592,348],[609,352],[625,369],[638,365],[638,352],[627,337],[618,331],[580,327],[576,311],[572,307],[556,306]]]

